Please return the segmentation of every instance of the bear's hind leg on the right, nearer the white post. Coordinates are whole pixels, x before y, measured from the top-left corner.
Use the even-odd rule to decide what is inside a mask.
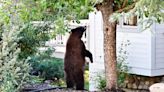
[[[83,71],[79,70],[75,76],[76,90],[84,90],[84,75]]]

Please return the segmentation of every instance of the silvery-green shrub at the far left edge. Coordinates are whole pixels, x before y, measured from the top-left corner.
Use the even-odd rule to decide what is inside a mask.
[[[7,26],[0,44],[0,92],[17,92],[29,79],[27,60],[18,60],[18,34],[16,26]]]

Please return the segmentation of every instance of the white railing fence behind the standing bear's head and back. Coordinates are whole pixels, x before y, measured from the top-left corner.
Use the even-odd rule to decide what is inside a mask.
[[[86,47],[88,48],[88,25],[89,21],[88,20],[80,20],[80,24],[75,23],[75,22],[70,22],[69,23],[69,28],[76,28],[78,26],[87,26],[87,30],[84,33],[82,40],[84,41]],[[65,33],[65,35],[57,35],[55,38],[49,40],[46,42],[46,45],[55,48],[55,52],[53,53],[53,56],[57,58],[64,58],[65,54],[65,46],[67,39],[69,37],[69,33]]]

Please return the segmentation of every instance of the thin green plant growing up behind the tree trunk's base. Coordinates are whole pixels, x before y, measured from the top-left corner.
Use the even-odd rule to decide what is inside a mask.
[[[118,86],[121,87],[124,83],[124,80],[126,76],[128,75],[128,66],[127,63],[125,62],[127,59],[128,52],[126,50],[127,46],[130,45],[130,41],[127,40],[127,42],[122,43],[121,46],[118,48],[118,53],[117,53],[117,83]],[[124,49],[123,49],[124,47]],[[104,90],[106,87],[106,79],[105,79],[105,73],[103,74],[98,74],[97,79],[98,80],[98,89]]]

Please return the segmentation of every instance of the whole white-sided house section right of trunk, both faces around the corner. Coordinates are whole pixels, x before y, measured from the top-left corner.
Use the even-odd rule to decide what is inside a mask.
[[[130,45],[126,47],[126,62],[130,73],[164,75],[164,24],[154,23],[145,31],[141,31],[139,27],[118,26],[117,47],[126,40],[130,41]]]

